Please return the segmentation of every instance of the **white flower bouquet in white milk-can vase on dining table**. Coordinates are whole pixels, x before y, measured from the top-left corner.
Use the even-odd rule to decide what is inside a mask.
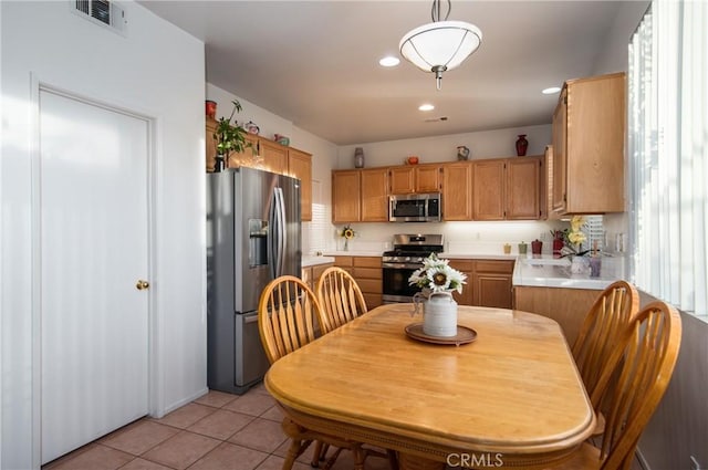
[[[423,304],[423,333],[429,336],[450,337],[457,335],[457,302],[452,291],[462,293],[467,276],[449,267],[449,261],[431,253],[408,278],[410,285],[421,289],[414,295],[415,310],[418,313]]]

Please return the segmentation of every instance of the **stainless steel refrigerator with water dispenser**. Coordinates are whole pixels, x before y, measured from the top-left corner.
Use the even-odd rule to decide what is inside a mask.
[[[253,168],[207,175],[207,383],[242,394],[269,363],[258,301],[302,269],[300,180]]]

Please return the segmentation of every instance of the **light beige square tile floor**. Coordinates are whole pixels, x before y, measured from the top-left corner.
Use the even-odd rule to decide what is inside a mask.
[[[244,395],[211,390],[162,419],[143,418],[45,466],[42,470],[279,470],[289,440],[275,400],[259,385]],[[312,450],[293,470],[311,470]],[[354,468],[342,452],[333,470]],[[367,459],[367,470],[388,469]],[[641,470],[637,460],[633,470]]]

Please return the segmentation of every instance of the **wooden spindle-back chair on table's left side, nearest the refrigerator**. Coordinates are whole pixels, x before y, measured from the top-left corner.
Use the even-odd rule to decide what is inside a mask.
[[[327,317],[323,314],[314,292],[299,278],[280,276],[271,281],[261,292],[258,304],[258,328],[271,364],[314,341],[315,322],[320,322],[322,331],[330,331]],[[364,460],[369,455],[391,458],[385,453],[366,449],[360,442],[312,431],[288,416],[283,418],[282,426],[292,440],[283,469],[291,469],[295,459],[312,442],[317,442],[311,461],[312,467],[317,467],[320,463],[322,445],[336,448],[326,460],[323,467],[325,470],[334,464],[342,449],[352,451],[356,470],[364,470]]]

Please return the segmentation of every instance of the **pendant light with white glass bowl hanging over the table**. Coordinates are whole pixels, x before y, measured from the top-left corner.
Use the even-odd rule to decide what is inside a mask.
[[[442,72],[461,64],[482,42],[482,32],[465,21],[447,21],[452,6],[440,20],[440,0],[433,1],[433,22],[408,31],[400,40],[400,54],[424,72],[435,73],[440,90]]]

